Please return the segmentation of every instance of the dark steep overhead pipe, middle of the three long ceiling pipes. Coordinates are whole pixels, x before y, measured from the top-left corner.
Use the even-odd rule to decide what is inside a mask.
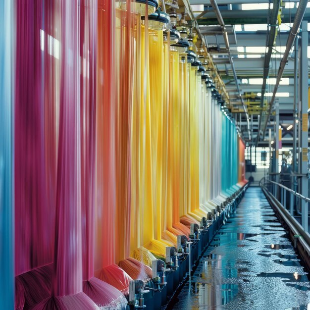
[[[273,0],[273,8],[270,18],[270,32],[267,32],[266,38],[266,49],[265,59],[264,59],[264,67],[263,67],[263,76],[262,76],[262,85],[261,85],[261,97],[260,97],[260,113],[259,113],[259,123],[258,123],[258,135],[256,140],[256,146],[258,146],[259,135],[260,135],[260,127],[261,127],[261,119],[262,119],[262,107],[264,103],[264,96],[266,92],[266,82],[267,77],[269,75],[269,64],[272,54],[273,43],[276,38],[276,27],[277,27],[277,18],[280,9],[280,0]]]

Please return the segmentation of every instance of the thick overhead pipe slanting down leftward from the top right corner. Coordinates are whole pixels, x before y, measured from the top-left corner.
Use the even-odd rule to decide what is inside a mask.
[[[272,111],[273,103],[274,103],[274,100],[275,100],[275,95],[276,95],[277,90],[279,88],[280,81],[281,81],[281,78],[282,78],[282,75],[283,75],[283,72],[284,72],[284,68],[285,68],[285,65],[286,65],[286,63],[288,61],[290,50],[293,47],[295,38],[296,38],[297,33],[298,33],[298,29],[300,27],[300,24],[301,24],[301,22],[303,20],[304,15],[305,15],[307,4],[308,4],[308,0],[301,0],[299,2],[299,6],[298,6],[298,9],[297,9],[295,18],[294,18],[294,23],[293,23],[293,26],[291,28],[290,34],[289,34],[289,36],[287,38],[286,49],[285,49],[283,58],[282,58],[282,60],[280,62],[277,80],[276,80],[276,83],[274,85],[272,97],[271,97],[271,100],[270,100],[270,103],[269,103],[268,114],[267,114],[267,117],[265,119],[265,123],[264,123],[264,126],[263,126],[262,137],[264,137],[264,135],[265,135],[267,123],[268,123],[268,120],[269,120],[269,117],[270,117],[270,114],[271,114],[271,111]]]

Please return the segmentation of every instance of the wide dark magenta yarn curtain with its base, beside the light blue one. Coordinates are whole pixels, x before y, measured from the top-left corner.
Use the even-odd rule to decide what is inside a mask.
[[[51,295],[57,27],[50,1],[15,7],[15,309],[28,309]]]

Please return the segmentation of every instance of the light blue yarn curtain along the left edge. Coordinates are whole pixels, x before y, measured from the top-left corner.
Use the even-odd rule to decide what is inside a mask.
[[[13,1],[0,0],[0,309],[14,309]]]

